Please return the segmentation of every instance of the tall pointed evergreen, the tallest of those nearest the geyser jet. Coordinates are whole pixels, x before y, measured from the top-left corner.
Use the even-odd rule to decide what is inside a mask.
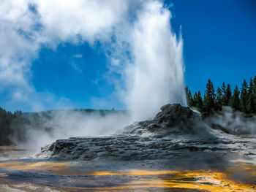
[[[214,84],[211,80],[208,80],[206,84],[206,92],[203,96],[203,110],[207,113],[212,112],[214,110],[215,104],[215,92],[214,92]]]

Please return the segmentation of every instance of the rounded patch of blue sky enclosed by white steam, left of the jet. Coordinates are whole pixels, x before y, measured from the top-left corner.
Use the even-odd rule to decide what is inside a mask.
[[[77,107],[90,106],[91,97],[105,97],[113,92],[102,80],[107,59],[99,46],[88,43],[59,45],[56,50],[43,48],[33,62],[32,82],[37,91],[49,91],[71,99]]]

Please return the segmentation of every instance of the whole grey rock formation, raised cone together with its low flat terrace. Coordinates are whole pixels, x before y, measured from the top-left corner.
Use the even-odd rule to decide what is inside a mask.
[[[200,114],[180,104],[167,104],[152,120],[134,123],[110,137],[72,137],[42,147],[37,158],[61,160],[110,159],[157,160],[195,155],[231,157],[232,153],[255,156],[254,137],[236,137],[212,130]],[[196,152],[196,153],[194,153]],[[217,160],[218,161],[218,160]]]

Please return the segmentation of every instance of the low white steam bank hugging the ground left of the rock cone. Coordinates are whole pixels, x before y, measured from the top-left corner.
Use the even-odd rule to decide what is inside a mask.
[[[31,127],[26,127],[26,144],[36,149],[56,141],[56,139],[110,135],[129,123],[125,112],[106,112],[105,115],[102,115],[99,111],[88,113],[56,110],[50,112],[48,118],[42,113],[39,113],[39,116],[39,123],[31,120]],[[35,124],[37,124],[37,128],[34,128]]]

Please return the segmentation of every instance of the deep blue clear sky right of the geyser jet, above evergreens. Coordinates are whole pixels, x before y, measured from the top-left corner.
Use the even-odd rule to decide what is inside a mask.
[[[210,78],[217,89],[256,75],[256,1],[175,0],[173,28],[182,26],[186,83],[205,90]]]

